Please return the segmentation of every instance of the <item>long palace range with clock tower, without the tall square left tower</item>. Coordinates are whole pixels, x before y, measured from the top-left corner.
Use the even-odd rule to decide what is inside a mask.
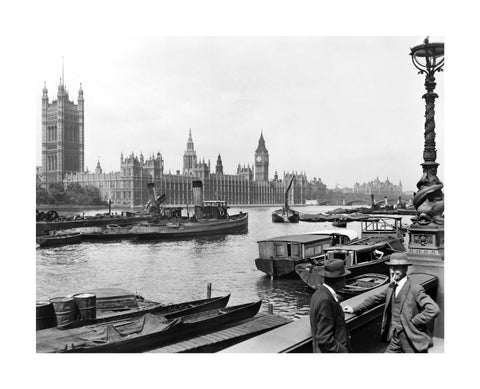
[[[261,160],[257,157],[261,155]],[[145,159],[133,153],[120,157],[120,172],[103,173],[98,162],[95,173],[69,173],[64,182],[78,182],[93,185],[100,189],[105,200],[112,200],[118,206],[142,206],[147,203],[147,183],[154,182],[158,195],[165,194],[168,204],[189,205],[193,203],[192,181],[201,179],[205,200],[226,200],[228,204],[283,204],[286,186],[293,173],[284,173],[283,180],[275,172],[273,180],[268,180],[268,151],[263,134],[255,152],[255,172],[250,166],[238,165],[237,174],[224,174],[221,156],[217,158],[215,173],[211,172],[210,162],[197,159],[191,131],[184,154],[183,174],[165,173],[160,153]],[[255,177],[255,179],[254,179]],[[289,193],[289,204],[303,204],[307,179],[304,174],[296,174],[295,183]]]

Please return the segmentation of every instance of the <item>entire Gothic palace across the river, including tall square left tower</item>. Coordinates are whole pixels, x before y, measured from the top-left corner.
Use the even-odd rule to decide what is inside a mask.
[[[304,204],[307,199],[325,198],[327,187],[321,179],[308,181],[305,173],[277,172],[269,176],[269,154],[263,133],[254,152],[254,164],[240,166],[236,174],[223,172],[222,158],[218,155],[215,171],[210,161],[197,158],[191,130],[187,149],[183,155],[183,170],[176,174],[165,173],[162,155],[152,154],[145,158],[133,153],[120,155],[120,171],[104,173],[100,161],[95,172],[85,171],[84,159],[84,98],[82,85],[78,91],[78,102],[70,100],[62,79],[58,86],[57,99],[49,102],[46,85],[42,94],[42,166],[38,170],[40,184],[63,182],[64,185],[78,183],[100,189],[105,200],[113,205],[143,206],[149,200],[147,183],[154,182],[157,194],[166,195],[168,204],[192,204],[192,181],[202,180],[205,200],[226,200],[230,205],[283,204],[285,189],[292,176],[293,185],[289,191],[289,204]],[[367,184],[355,184],[352,192],[378,197],[399,196],[402,184],[394,185],[387,179],[378,178]]]

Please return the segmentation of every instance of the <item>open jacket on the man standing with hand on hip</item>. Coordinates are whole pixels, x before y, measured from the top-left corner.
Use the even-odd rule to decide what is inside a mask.
[[[413,344],[416,351],[426,351],[432,344],[432,338],[428,334],[428,324],[439,314],[440,309],[425,290],[418,284],[413,283],[407,276],[407,280],[400,293],[400,322],[407,338]],[[382,303],[385,304],[382,319],[382,340],[389,341],[391,302],[393,283],[381,293],[367,298],[363,303],[352,307],[355,313],[363,312]]]

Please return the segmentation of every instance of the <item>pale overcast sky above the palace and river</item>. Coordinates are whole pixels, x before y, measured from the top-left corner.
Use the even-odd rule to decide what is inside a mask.
[[[45,42],[32,68],[41,94],[65,84],[85,98],[85,164],[120,170],[120,153],[162,154],[182,169],[188,131],[199,158],[226,174],[253,164],[263,131],[275,171],[305,171],[329,187],[378,177],[416,190],[423,162],[424,76],[408,37],[155,37]],[[438,176],[443,180],[444,77],[437,76]]]

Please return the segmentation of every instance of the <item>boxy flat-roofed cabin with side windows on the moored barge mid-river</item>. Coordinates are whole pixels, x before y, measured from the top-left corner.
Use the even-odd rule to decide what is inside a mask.
[[[308,260],[332,246],[330,235],[288,235],[258,241],[259,258]]]

